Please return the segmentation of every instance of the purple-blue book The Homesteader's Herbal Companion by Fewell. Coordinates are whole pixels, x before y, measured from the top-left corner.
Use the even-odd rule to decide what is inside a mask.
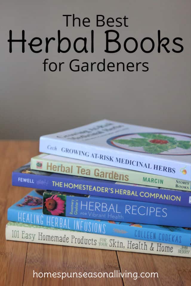
[[[175,180],[173,178],[169,179]],[[166,181],[164,180],[164,182]],[[183,181],[181,182],[183,183]],[[191,206],[191,193],[187,191],[159,189],[144,185],[31,170],[30,163],[13,172],[12,184],[13,186],[49,189],[58,192],[73,192],[84,195],[139,200],[151,203]]]

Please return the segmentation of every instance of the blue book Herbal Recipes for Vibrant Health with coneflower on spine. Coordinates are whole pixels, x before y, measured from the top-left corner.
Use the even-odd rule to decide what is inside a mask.
[[[88,219],[191,227],[191,208],[45,191],[43,213]]]

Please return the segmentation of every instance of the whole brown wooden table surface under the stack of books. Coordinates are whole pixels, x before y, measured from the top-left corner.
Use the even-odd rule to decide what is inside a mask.
[[[0,141],[0,285],[190,285],[191,259],[5,240],[7,208],[29,192],[11,172],[38,154],[36,141]],[[158,272],[158,278],[33,278],[36,272]]]

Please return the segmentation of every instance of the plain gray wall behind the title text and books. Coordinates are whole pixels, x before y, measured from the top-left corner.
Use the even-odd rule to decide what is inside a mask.
[[[91,27],[65,28],[62,14],[72,13],[89,17]],[[113,28],[121,40],[133,36],[140,42],[148,36],[157,42],[160,29],[171,49],[172,39],[182,37],[184,51],[106,54],[104,31],[112,28],[95,28],[96,14],[129,18],[128,28]],[[27,43],[33,37],[56,37],[58,29],[73,40],[94,29],[95,52],[58,54],[51,43],[48,54],[34,54],[28,44],[22,54],[21,44],[13,43],[10,54],[10,29],[14,38],[24,29]],[[103,118],[190,133],[190,0],[1,0],[0,47],[1,139],[38,139]],[[44,58],[68,65],[74,58],[99,62],[104,57],[108,62],[149,62],[149,71],[43,71]]]

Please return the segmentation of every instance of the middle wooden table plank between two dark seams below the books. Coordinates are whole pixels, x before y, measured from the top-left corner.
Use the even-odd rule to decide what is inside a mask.
[[[58,245],[40,245],[29,243],[24,275],[24,285],[118,285],[122,286],[121,278],[43,278],[31,279],[33,269],[36,272],[112,272],[119,270],[115,251],[60,247]]]

